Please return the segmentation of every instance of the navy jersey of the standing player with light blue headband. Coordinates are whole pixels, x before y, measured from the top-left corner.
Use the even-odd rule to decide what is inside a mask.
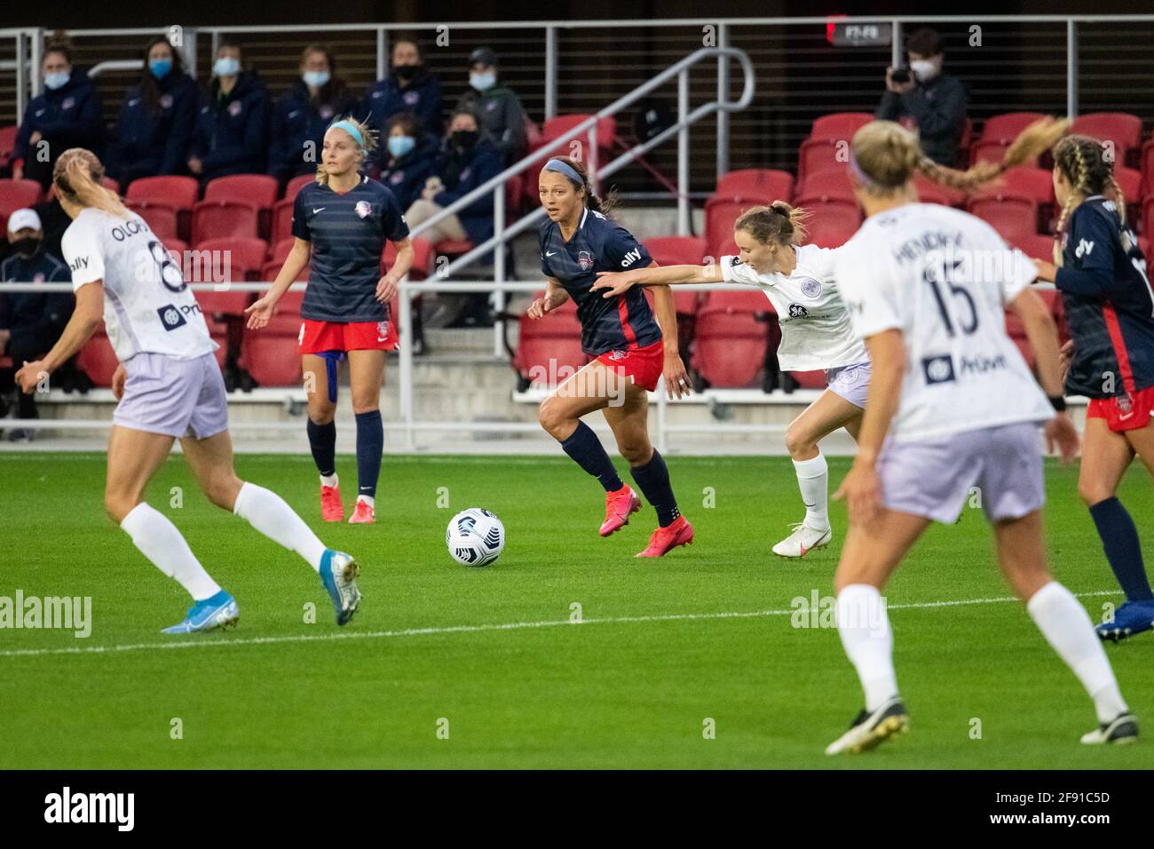
[[[313,243],[301,318],[315,321],[384,321],[388,307],[376,299],[384,243],[409,236],[397,199],[376,180],[362,177],[338,194],[310,183],[297,194],[292,234]]]

